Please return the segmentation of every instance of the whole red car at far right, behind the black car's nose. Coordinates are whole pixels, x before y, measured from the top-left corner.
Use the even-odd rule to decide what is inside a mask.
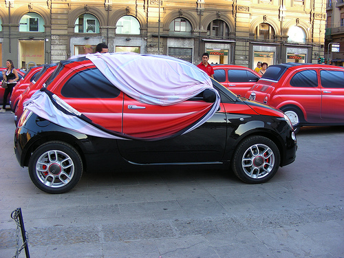
[[[281,109],[296,130],[303,125],[344,125],[344,67],[270,65],[246,98]]]

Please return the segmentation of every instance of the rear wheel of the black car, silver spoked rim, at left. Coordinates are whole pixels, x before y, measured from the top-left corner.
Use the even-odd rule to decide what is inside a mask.
[[[65,193],[80,181],[83,162],[74,147],[65,142],[47,142],[30,158],[32,182],[46,193]]]

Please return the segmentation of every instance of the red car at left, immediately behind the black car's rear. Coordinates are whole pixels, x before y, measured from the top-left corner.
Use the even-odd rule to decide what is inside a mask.
[[[14,111],[14,122],[17,124],[17,121],[21,117],[21,114],[23,114],[23,103],[25,100],[28,100],[31,98],[31,96],[41,87],[44,87],[44,83],[47,81],[47,79],[52,75],[52,72],[54,72],[54,69],[57,67],[56,63],[52,63],[49,65],[43,65],[41,68],[41,71],[36,74],[34,77],[34,80],[30,83],[28,87],[26,87],[25,91],[19,96],[18,105]]]

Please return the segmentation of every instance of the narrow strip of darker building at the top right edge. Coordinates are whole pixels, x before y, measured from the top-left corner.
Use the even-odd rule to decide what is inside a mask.
[[[327,0],[325,32],[325,61],[344,64],[344,1]]]

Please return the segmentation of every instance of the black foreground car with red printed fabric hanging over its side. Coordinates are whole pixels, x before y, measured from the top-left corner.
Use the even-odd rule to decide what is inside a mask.
[[[154,69],[148,68],[148,72]],[[14,141],[17,159],[28,166],[39,189],[63,193],[78,183],[85,169],[116,172],[135,166],[226,167],[255,184],[270,180],[279,166],[295,159],[297,141],[288,117],[237,97],[215,80],[211,79],[213,92],[204,90],[181,103],[162,106],[125,94],[104,74],[87,58],[61,61],[47,87],[32,96],[49,98],[52,109],[63,111],[61,116],[47,112],[42,117],[27,106],[19,120]],[[145,75],[154,78],[153,71]],[[166,81],[171,83],[178,79],[169,76]],[[220,101],[215,113],[187,131],[197,122],[195,114],[206,116],[214,92]],[[64,125],[58,122],[62,116],[68,117]],[[74,118],[80,118],[78,125],[104,136],[82,133],[70,125]]]

